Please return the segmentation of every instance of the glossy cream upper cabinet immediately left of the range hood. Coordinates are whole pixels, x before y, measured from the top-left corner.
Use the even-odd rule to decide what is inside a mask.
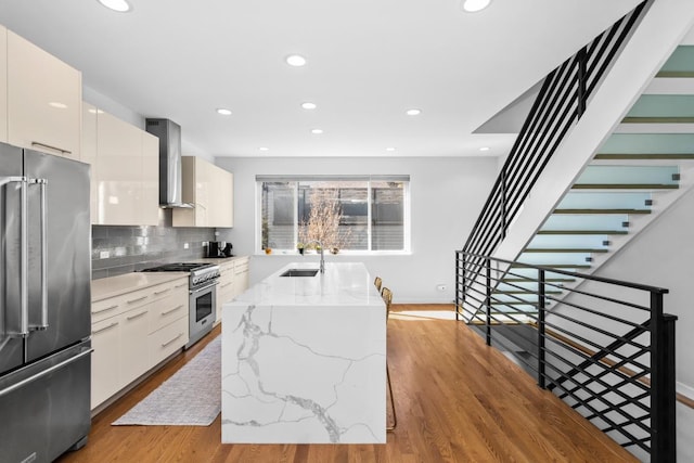
[[[82,123],[92,224],[158,224],[159,139],[88,103]]]

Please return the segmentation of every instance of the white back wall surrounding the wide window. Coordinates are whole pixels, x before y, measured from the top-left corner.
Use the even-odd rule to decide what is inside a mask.
[[[262,280],[298,255],[256,255],[256,175],[409,175],[412,254],[407,256],[325,255],[326,260],[363,261],[381,275],[397,303],[451,303],[454,250],[460,249],[497,176],[496,157],[434,158],[236,158],[216,164],[234,173],[234,228],[220,230],[236,255],[253,255],[250,283]],[[304,259],[316,259],[307,256]],[[446,284],[438,292],[437,284]]]

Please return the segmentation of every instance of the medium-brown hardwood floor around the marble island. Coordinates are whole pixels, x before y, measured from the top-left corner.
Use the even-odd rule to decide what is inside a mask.
[[[621,462],[626,450],[464,324],[450,306],[394,306],[388,364],[398,427],[385,446],[221,445],[209,427],[111,426],[214,336],[181,353],[92,423],[69,462]],[[448,318],[448,320],[445,320]],[[220,327],[216,327],[216,333]]]

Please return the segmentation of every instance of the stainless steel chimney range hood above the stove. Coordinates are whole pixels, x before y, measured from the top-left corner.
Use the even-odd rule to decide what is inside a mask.
[[[193,207],[182,201],[181,126],[169,119],[146,119],[146,131],[159,138],[159,207]]]

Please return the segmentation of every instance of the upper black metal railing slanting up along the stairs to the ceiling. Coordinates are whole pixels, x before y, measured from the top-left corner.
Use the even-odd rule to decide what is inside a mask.
[[[646,0],[550,73],[468,235],[463,250],[492,254],[530,190],[618,55]]]

